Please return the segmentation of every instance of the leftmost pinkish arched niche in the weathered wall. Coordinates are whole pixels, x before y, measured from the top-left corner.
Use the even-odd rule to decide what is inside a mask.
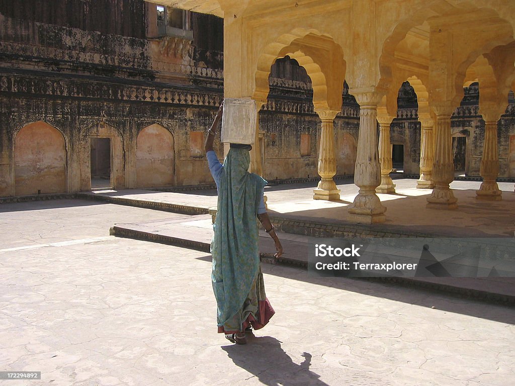
[[[37,121],[16,133],[16,196],[66,192],[66,170],[66,145],[58,129]]]

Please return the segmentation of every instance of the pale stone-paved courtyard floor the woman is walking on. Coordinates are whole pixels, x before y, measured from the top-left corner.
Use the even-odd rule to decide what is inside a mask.
[[[8,385],[511,386],[515,310],[263,265],[276,315],[216,334],[209,255],[115,238],[176,215],[92,201],[0,206],[0,370]],[[3,384],[3,383],[2,383]]]

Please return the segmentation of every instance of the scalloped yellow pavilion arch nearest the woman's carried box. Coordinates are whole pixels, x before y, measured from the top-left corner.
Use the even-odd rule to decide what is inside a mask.
[[[343,51],[331,37],[314,29],[294,29],[265,47],[256,64],[254,99],[267,99],[270,68],[277,59],[285,56],[295,59],[310,77],[315,110],[341,109],[345,79]]]

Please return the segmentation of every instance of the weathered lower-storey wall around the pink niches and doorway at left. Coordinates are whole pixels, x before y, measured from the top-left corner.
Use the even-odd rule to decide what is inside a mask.
[[[192,185],[212,182],[205,157],[191,155],[190,132],[205,131],[209,127],[221,95],[214,97],[212,106],[174,106],[166,103],[97,103],[94,101],[13,101],[0,97],[2,122],[2,167],[0,168],[0,194],[14,196],[10,184],[15,176],[12,169],[13,137],[30,122],[44,121],[59,130],[66,144],[67,183],[70,191],[90,188],[90,138],[113,139],[113,185],[132,188],[136,181],[137,138],[139,133],[158,124],[173,135],[175,143],[173,177],[171,185]],[[56,149],[57,150],[57,149]],[[156,150],[159,149],[156,147]],[[38,157],[49,157],[49,148],[38,148]],[[148,151],[148,148],[147,148]],[[217,146],[218,154],[222,149]],[[62,167],[66,165],[63,163]],[[148,184],[146,184],[148,185]],[[156,181],[154,186],[163,185]],[[38,189],[37,189],[38,190]],[[35,192],[37,192],[35,190]],[[23,190],[23,192],[26,192]],[[45,192],[43,189],[41,192]],[[49,191],[50,192],[50,191]]]

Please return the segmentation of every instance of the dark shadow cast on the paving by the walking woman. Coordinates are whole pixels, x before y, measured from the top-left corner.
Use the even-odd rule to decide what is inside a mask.
[[[269,386],[303,385],[328,386],[319,375],[310,371],[311,357],[303,353],[304,361],[296,364],[281,348],[281,342],[272,337],[254,337],[247,334],[247,344],[223,346],[234,364],[258,377]]]

